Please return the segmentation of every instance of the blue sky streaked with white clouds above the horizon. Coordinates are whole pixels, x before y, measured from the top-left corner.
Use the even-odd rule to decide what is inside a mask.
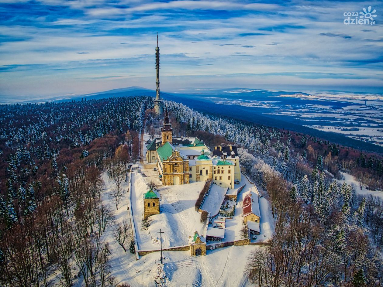
[[[381,1],[0,0],[0,101],[155,89],[157,32],[162,91],[383,93]]]

